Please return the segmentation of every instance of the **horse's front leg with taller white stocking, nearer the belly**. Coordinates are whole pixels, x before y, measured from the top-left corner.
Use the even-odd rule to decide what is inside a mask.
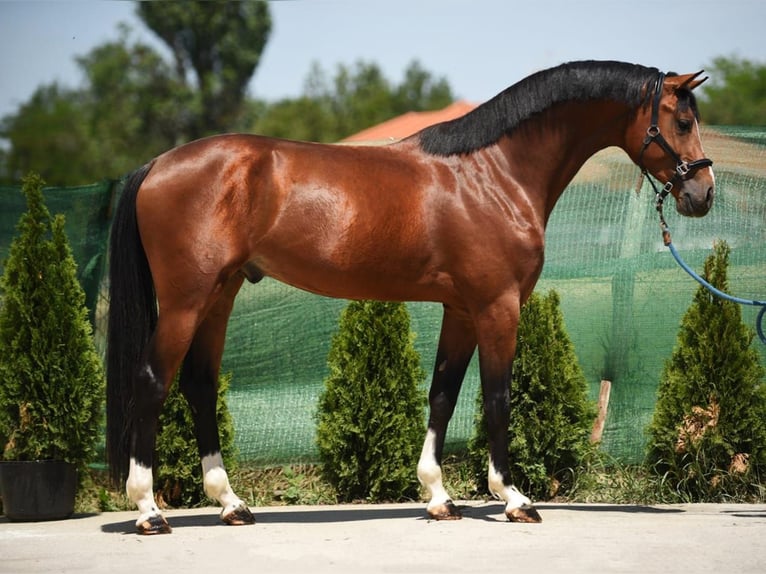
[[[428,490],[428,515],[435,520],[457,520],[460,511],[442,482],[444,438],[455,410],[465,371],[476,349],[473,325],[467,316],[445,307],[436,365],[429,393],[428,431],[418,462],[418,479]]]

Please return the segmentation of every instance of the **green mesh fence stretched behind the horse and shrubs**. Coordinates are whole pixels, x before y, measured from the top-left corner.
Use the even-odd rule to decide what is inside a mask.
[[[706,155],[716,163],[716,204],[704,218],[665,210],[673,241],[697,270],[713,243],[732,248],[731,291],[766,297],[766,130],[707,128]],[[612,381],[603,447],[636,462],[654,407],[664,361],[675,345],[681,316],[697,284],[681,270],[662,238],[653,193],[635,188],[638,169],[619,150],[589,161],[553,212],[546,263],[538,290],[556,289],[593,398]],[[96,333],[102,338],[103,273],[111,183],[46,190],[52,212],[67,215],[67,231],[80,264]],[[0,256],[5,258],[23,196],[0,188]],[[261,465],[313,462],[317,396],[326,357],[345,301],[310,295],[266,279],[245,284],[229,323],[223,369],[233,374],[229,408],[243,460]],[[409,306],[416,347],[431,371],[441,320],[434,303]],[[757,309],[742,308],[753,325]],[[754,342],[766,364],[766,345]],[[461,449],[472,433],[478,365],[471,364],[447,437]]]

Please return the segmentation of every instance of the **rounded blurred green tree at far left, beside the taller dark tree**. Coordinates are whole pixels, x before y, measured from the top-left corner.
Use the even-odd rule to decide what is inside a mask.
[[[29,170],[52,185],[118,178],[183,140],[190,93],[127,28],[77,64],[84,77],[80,88],[42,86],[17,114],[4,118],[0,135],[11,144],[9,179]]]

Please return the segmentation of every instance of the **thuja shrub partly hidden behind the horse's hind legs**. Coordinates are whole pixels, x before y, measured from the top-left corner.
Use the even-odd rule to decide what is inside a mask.
[[[216,405],[221,456],[229,472],[235,470],[237,463],[234,422],[226,404],[226,391],[230,383],[231,374],[219,377]],[[171,387],[160,415],[155,467],[156,496],[161,505],[182,507],[207,502],[202,487],[202,467],[194,436],[194,420],[177,381]]]

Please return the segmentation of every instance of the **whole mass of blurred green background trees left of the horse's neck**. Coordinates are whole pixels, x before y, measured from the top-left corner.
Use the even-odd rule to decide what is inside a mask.
[[[452,94],[413,62],[401,84],[376,64],[315,64],[304,93],[264,102],[248,97],[271,31],[268,4],[141,2],[138,14],[167,44],[166,60],[125,25],[114,40],[77,58],[76,88],[40,86],[0,120],[0,182],[30,170],[52,185],[119,178],[181,143],[228,131],[334,142],[405,113],[444,107]]]

